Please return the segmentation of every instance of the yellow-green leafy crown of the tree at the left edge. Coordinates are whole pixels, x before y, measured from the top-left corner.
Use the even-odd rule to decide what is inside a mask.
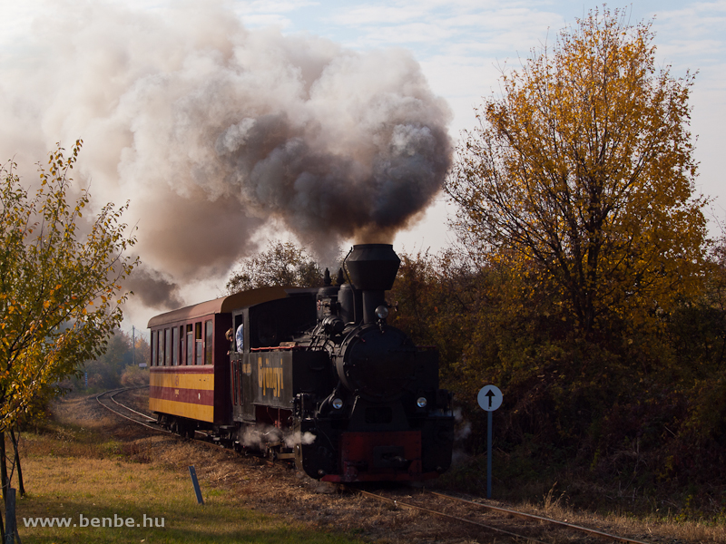
[[[135,243],[121,223],[128,203],[83,223],[88,191],[69,195],[81,145],[67,158],[50,153],[34,194],[14,163],[0,169],[0,433],[44,388],[102,355],[122,320],[120,282],[138,262],[124,255]]]

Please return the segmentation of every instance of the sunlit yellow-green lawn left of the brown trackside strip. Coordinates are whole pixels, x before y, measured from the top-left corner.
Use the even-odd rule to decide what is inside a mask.
[[[338,542],[286,520],[240,508],[228,491],[206,494],[196,504],[188,478],[179,471],[110,459],[65,458],[26,463],[28,485],[37,490],[18,504],[24,542]],[[83,520],[108,520],[114,527],[80,527]],[[144,516],[146,518],[144,518]],[[26,528],[25,519],[67,518],[74,527]],[[154,527],[116,527],[118,520],[153,520]],[[159,527],[162,524],[163,527]]]

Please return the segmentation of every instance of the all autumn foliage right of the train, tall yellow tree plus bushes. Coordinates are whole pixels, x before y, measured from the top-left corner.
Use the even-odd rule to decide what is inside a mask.
[[[692,75],[657,70],[650,25],[626,21],[595,10],[503,74],[446,183],[460,243],[402,257],[393,321],[441,349],[466,452],[485,451],[476,392],[503,390],[500,473],[613,496],[708,484],[708,503],[726,486],[725,246],[694,189]]]

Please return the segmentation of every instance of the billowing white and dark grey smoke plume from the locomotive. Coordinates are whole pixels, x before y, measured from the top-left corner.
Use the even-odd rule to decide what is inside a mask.
[[[441,186],[450,113],[405,51],[247,30],[211,2],[63,6],[3,60],[0,151],[83,138],[76,181],[131,200],[148,305],[224,277],[270,221],[325,257],[390,241]]]

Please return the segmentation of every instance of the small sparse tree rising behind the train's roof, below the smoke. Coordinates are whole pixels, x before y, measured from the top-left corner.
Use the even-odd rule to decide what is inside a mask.
[[[292,242],[270,242],[267,250],[244,258],[227,282],[227,292],[270,286],[319,287],[323,274],[313,257]]]

